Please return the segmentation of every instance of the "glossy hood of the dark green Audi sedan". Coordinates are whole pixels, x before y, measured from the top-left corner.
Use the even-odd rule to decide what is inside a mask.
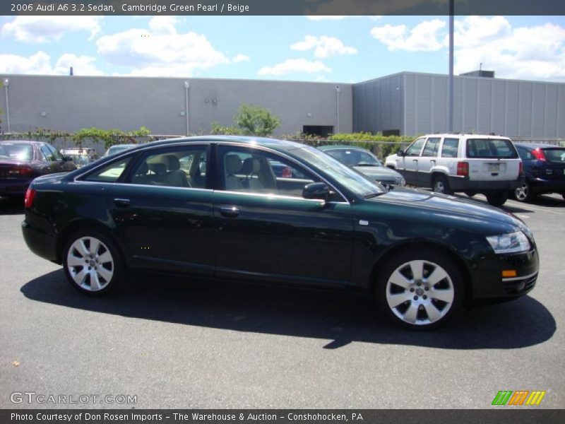
[[[371,204],[400,206],[403,211],[410,208],[420,216],[420,219],[429,218],[441,225],[465,227],[470,230],[482,228],[492,234],[520,229],[528,237],[532,237],[528,226],[512,213],[470,199],[424,190],[398,188],[367,201]],[[396,213],[401,212],[396,211]]]

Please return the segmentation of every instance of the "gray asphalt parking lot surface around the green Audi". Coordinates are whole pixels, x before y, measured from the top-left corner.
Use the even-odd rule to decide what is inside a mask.
[[[69,406],[14,392],[89,396],[81,408],[489,408],[499,390],[564,408],[565,201],[504,208],[535,234],[537,287],[420,334],[354,295],[138,276],[86,298],[25,246],[19,202],[0,199],[0,408]],[[107,395],[136,402],[92,401]]]

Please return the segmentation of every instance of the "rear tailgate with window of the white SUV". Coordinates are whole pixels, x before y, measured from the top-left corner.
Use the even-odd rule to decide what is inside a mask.
[[[465,141],[472,181],[515,181],[521,159],[513,143],[503,138],[469,138]]]

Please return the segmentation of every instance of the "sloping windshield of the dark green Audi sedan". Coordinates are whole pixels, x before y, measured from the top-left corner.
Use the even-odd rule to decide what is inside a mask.
[[[292,151],[292,153],[306,163],[323,170],[323,172],[326,172],[334,181],[339,182],[349,189],[350,192],[358,196],[367,197],[386,193],[361,173],[352,170],[350,167],[343,165],[343,163],[340,163],[338,160],[335,160],[330,155],[326,155],[326,153],[316,148],[304,146],[303,148],[297,148]]]

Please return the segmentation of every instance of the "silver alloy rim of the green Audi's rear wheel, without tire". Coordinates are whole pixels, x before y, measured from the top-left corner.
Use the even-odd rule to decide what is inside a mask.
[[[83,290],[104,289],[114,276],[114,258],[108,247],[96,237],[80,237],[69,247],[66,269]]]

